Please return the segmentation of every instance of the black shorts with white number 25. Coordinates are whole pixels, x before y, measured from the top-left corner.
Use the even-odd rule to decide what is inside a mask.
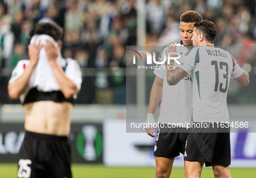
[[[71,178],[67,136],[26,132],[19,150],[18,178]]]

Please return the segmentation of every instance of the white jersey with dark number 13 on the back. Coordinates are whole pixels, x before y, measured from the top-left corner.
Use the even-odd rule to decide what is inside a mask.
[[[229,122],[227,90],[230,78],[238,78],[243,69],[229,52],[211,46],[188,51],[180,68],[193,72],[194,122]]]

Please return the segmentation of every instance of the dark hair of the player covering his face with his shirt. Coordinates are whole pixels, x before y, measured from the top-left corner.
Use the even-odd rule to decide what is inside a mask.
[[[63,28],[52,21],[39,21],[32,27],[29,36],[32,38],[33,35],[41,34],[52,36],[55,41],[58,41],[62,39]]]

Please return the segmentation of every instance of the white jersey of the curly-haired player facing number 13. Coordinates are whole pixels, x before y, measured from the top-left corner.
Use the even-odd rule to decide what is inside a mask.
[[[182,62],[182,58],[188,52],[188,49],[185,48],[181,40],[165,45],[162,48],[158,61],[164,60],[169,45],[175,43],[177,44],[176,51],[178,53],[182,52],[181,58],[178,59],[179,62]],[[165,124],[182,123],[183,126],[181,126],[185,127],[185,123],[191,120],[192,110],[192,81],[190,72],[177,85],[169,86],[166,78],[166,66],[165,62],[159,69],[154,70],[154,74],[164,80],[158,122]]]

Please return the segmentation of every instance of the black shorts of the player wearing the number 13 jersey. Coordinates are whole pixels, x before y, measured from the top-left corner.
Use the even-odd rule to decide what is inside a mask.
[[[184,160],[203,161],[205,166],[230,165],[230,128],[190,128]]]

